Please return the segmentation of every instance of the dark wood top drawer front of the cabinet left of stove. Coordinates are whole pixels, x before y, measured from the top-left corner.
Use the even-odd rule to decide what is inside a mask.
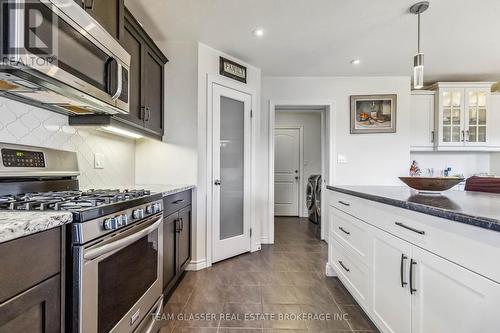
[[[0,244],[0,303],[61,271],[61,228]]]

